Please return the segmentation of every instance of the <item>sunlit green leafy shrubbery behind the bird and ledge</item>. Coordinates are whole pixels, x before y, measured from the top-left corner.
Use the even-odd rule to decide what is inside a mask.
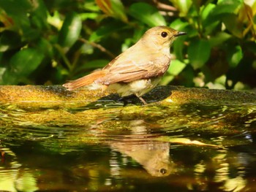
[[[107,64],[147,28],[167,25],[188,35],[174,42],[176,59],[162,84],[255,87],[255,0],[0,0],[0,7],[1,84],[74,79]]]

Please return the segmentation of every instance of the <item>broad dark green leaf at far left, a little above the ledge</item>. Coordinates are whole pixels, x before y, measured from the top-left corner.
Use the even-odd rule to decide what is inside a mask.
[[[15,76],[28,76],[41,64],[44,54],[33,48],[20,50],[12,56],[10,64]]]

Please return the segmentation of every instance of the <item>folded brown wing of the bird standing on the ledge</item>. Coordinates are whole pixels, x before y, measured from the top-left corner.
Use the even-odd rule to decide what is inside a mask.
[[[141,55],[139,62],[134,59],[126,59],[124,61],[116,60],[116,63],[109,65],[108,74],[105,77],[99,78],[97,82],[104,85],[110,85],[115,82],[132,82],[134,80],[157,77],[166,72],[170,58],[166,55],[161,57],[151,56],[148,59],[145,55]]]

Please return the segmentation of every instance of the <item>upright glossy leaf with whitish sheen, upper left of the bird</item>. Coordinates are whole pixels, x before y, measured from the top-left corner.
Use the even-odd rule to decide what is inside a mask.
[[[78,40],[81,29],[82,20],[80,16],[76,12],[67,15],[59,33],[59,45],[64,47],[64,52],[67,52]]]

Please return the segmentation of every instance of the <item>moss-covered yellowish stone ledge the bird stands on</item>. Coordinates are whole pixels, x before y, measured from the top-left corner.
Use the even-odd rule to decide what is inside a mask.
[[[61,85],[0,85],[1,104],[32,105],[37,107],[79,107],[91,104],[140,105],[136,97],[123,99],[116,93],[90,91],[80,88],[67,91]],[[256,104],[256,93],[181,86],[159,86],[143,98],[148,104]],[[125,102],[124,102],[125,101]]]

